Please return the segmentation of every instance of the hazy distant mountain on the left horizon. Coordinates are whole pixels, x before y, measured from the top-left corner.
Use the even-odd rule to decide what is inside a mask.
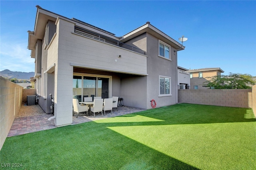
[[[2,77],[8,77],[8,73],[12,73],[9,74],[9,78],[16,78],[20,80],[29,80],[30,77],[34,77],[35,72],[20,72],[20,71],[10,71],[10,70],[2,70],[0,71],[0,76]]]

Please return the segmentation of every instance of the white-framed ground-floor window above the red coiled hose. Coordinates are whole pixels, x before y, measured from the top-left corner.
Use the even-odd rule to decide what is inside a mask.
[[[171,96],[170,85],[170,77],[159,76],[159,96]]]

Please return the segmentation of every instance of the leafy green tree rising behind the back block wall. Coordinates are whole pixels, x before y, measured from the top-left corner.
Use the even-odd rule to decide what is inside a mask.
[[[229,73],[229,75],[208,77],[204,86],[214,89],[251,89],[256,84],[256,77],[250,74]]]

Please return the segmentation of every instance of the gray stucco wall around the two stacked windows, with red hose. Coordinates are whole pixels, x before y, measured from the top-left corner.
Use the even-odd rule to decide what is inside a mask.
[[[152,108],[150,100],[156,101],[156,107],[167,106],[178,103],[177,96],[177,57],[174,49],[170,49],[170,59],[158,57],[158,38],[147,33],[147,55],[148,55],[148,76],[147,76],[147,109]],[[172,96],[159,97],[159,76],[171,77],[170,94]]]

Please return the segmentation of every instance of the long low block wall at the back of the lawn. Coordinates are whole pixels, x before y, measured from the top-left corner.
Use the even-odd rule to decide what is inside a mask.
[[[252,89],[178,89],[178,102],[252,108]]]

